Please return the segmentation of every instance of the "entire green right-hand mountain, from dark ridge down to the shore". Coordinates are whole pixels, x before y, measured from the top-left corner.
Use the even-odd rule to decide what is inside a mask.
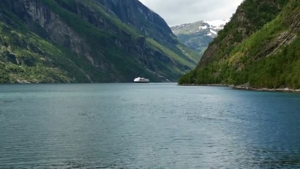
[[[299,0],[245,0],[179,83],[300,88],[299,46]]]

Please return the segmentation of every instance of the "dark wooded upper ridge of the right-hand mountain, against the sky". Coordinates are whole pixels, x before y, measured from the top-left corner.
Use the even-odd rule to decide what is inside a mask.
[[[236,45],[258,31],[264,24],[272,21],[280,12],[287,0],[245,0],[232,16],[218,37],[209,44],[218,49],[210,60],[220,60],[236,47]],[[203,57],[207,57],[205,54]]]

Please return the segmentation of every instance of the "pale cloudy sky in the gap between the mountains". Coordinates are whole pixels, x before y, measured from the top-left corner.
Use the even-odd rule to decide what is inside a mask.
[[[230,19],[243,0],[140,0],[169,26],[199,20]]]

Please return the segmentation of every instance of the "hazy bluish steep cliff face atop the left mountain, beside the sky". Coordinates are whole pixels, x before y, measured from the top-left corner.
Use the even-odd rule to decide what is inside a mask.
[[[158,14],[138,0],[96,0],[128,23],[157,42],[177,43],[171,29]]]

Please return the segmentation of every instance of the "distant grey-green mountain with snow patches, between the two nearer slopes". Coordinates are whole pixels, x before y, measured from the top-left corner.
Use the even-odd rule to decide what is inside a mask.
[[[178,40],[201,56],[229,20],[198,21],[171,27]]]

